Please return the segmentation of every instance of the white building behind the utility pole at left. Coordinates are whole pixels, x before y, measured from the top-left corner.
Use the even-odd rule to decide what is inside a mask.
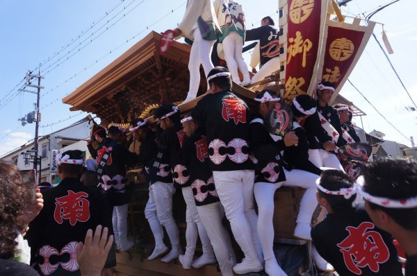
[[[51,153],[52,150],[81,150],[88,155],[87,143],[84,141],[90,137],[90,123],[88,119],[81,119],[66,128],[44,135],[38,139],[38,155],[40,156],[41,181],[54,183],[58,174],[51,172]],[[23,146],[16,148],[10,153],[0,157],[3,162],[15,164],[21,170],[33,169],[33,162],[24,159],[24,153],[33,150],[33,140],[28,141]],[[53,170],[52,170],[53,171]],[[38,176],[39,178],[39,176]]]

